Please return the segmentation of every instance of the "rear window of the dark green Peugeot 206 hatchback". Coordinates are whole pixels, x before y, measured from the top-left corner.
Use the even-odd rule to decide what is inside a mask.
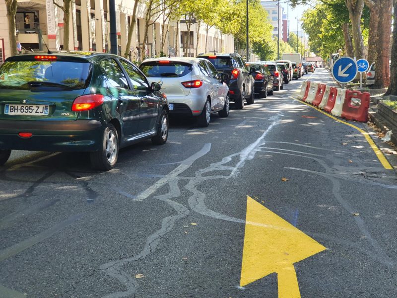
[[[32,86],[83,89],[89,83],[91,63],[69,61],[7,61],[0,68],[0,88]]]

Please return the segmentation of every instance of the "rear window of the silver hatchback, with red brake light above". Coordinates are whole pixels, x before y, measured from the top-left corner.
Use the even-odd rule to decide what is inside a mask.
[[[183,62],[150,61],[143,62],[139,68],[147,77],[181,77],[191,73],[193,66]]]

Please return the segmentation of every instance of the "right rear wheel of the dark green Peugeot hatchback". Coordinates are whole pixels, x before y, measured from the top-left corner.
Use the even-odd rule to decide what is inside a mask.
[[[113,124],[109,124],[102,135],[102,146],[98,151],[90,152],[94,169],[108,171],[113,168],[119,157],[119,135]]]

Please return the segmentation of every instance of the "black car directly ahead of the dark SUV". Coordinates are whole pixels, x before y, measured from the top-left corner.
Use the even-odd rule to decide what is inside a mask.
[[[272,95],[274,77],[265,65],[249,62],[247,63],[247,66],[249,66],[250,69],[255,69],[255,72],[252,73],[252,76],[255,79],[255,93],[259,94],[263,98],[266,98],[267,95]]]

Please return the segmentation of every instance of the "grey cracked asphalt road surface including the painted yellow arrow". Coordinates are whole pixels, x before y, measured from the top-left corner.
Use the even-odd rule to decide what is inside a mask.
[[[317,70],[204,129],[172,119],[109,172],[13,152],[0,298],[396,297],[396,171],[293,99],[307,78],[332,83]]]

